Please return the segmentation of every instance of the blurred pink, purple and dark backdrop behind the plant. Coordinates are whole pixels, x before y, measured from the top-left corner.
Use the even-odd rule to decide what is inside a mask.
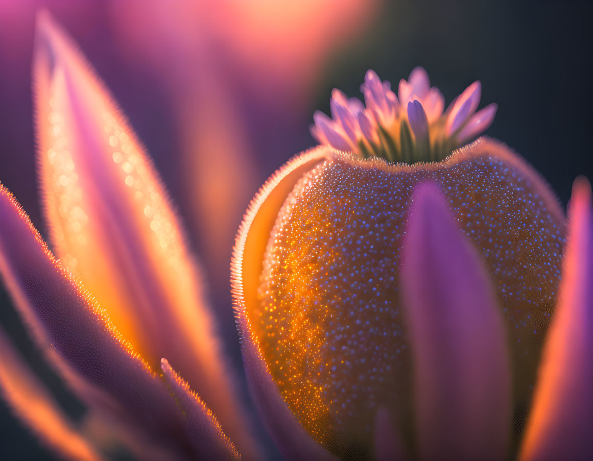
[[[78,42],[154,159],[237,369],[229,261],[241,217],[266,178],[313,145],[313,111],[329,113],[331,89],[361,97],[367,69],[396,86],[421,65],[447,104],[480,79],[480,107],[499,105],[487,135],[521,153],[563,205],[577,175],[593,178],[589,1],[0,0],[0,181],[43,235],[31,106],[40,8]],[[0,323],[83,418],[2,287]],[[0,446],[7,460],[54,459],[2,401]]]

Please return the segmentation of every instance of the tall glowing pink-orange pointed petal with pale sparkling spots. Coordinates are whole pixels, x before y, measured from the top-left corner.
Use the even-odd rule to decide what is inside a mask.
[[[153,368],[168,357],[241,450],[255,450],[168,193],[113,98],[47,14],[34,71],[41,188],[57,254]]]

